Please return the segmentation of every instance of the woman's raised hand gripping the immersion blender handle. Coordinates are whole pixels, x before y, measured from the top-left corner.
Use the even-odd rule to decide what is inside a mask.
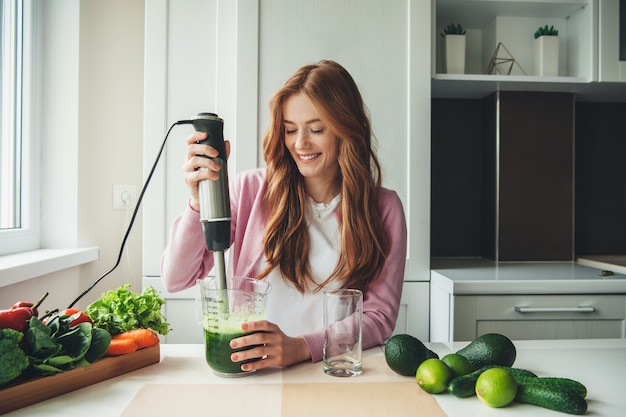
[[[187,137],[187,156],[183,165],[183,177],[189,191],[191,208],[200,211],[200,201],[198,196],[198,182],[202,180],[217,181],[219,178],[220,165],[210,158],[215,158],[218,152],[209,145],[203,145],[201,140],[206,139],[206,133],[196,132]],[[230,156],[230,142],[225,140],[226,159]],[[205,158],[206,155],[209,158]]]

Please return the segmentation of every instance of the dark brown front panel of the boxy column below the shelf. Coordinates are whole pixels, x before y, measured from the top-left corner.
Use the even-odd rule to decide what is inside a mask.
[[[573,259],[574,96],[500,92],[498,260]]]

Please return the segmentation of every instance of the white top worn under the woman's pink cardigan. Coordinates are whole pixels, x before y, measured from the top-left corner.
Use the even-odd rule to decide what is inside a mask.
[[[341,236],[335,215],[338,204],[339,195],[328,204],[316,203],[309,197],[309,210],[305,214],[309,229],[309,263],[313,279],[318,284],[326,281],[339,259]],[[263,270],[266,265],[265,258],[262,258],[257,270]],[[341,287],[340,282],[331,281],[324,290],[300,294],[277,269],[265,279],[272,285],[267,296],[266,318],[292,337],[324,327],[324,290]]]

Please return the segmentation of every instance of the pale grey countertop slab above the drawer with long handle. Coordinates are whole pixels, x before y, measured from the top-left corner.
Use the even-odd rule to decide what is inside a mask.
[[[448,294],[626,294],[626,275],[577,262],[433,259],[431,285]]]

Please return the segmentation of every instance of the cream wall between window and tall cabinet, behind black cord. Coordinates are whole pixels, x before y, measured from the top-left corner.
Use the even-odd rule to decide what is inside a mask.
[[[6,287],[0,308],[37,300],[65,308],[118,256],[129,221],[113,210],[113,184],[142,178],[142,0],[40,1],[42,240],[44,247],[100,247],[100,260]],[[123,283],[141,290],[141,216],[120,266],[77,307]]]

